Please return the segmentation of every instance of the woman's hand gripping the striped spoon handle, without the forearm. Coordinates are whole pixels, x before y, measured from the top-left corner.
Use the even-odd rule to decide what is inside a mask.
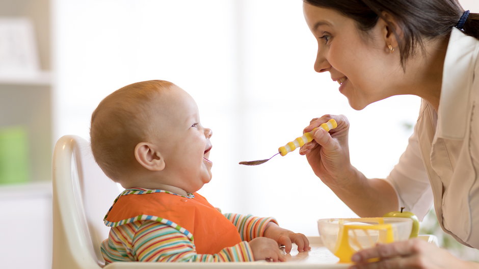
[[[321,128],[313,131],[314,140],[303,145],[300,154],[306,155],[314,174],[326,185],[342,187],[347,185],[347,179],[354,177],[351,174],[356,171],[349,158],[348,119],[343,115],[324,115],[312,119],[304,132],[311,131],[330,119],[336,120],[338,126],[330,132]]]

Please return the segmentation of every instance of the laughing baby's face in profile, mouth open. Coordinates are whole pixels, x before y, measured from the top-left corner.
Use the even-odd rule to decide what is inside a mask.
[[[177,86],[156,99],[158,109],[151,119],[153,143],[165,160],[164,172],[169,184],[188,193],[201,189],[211,180],[211,129],[200,123],[193,98]]]

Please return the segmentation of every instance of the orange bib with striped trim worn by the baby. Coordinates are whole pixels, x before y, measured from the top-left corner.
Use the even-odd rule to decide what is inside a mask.
[[[194,198],[187,198],[141,190],[123,192],[105,216],[105,224],[116,227],[140,220],[158,221],[187,235],[198,254],[216,254],[241,242],[236,227],[203,196],[195,193]]]

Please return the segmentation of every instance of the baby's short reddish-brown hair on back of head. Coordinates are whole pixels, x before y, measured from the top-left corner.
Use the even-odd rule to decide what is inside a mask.
[[[105,97],[92,114],[91,148],[101,170],[113,181],[136,162],[135,147],[149,133],[152,99],[174,85],[165,80],[148,80],[127,85]]]

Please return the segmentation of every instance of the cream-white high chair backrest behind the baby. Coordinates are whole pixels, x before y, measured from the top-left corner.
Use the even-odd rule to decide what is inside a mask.
[[[101,241],[109,228],[103,217],[119,195],[118,185],[101,171],[90,144],[64,136],[53,156],[53,269],[101,268]]]

